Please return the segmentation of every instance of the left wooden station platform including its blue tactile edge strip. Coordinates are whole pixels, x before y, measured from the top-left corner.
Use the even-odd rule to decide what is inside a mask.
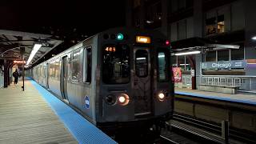
[[[0,143],[117,143],[33,80],[0,89]]]

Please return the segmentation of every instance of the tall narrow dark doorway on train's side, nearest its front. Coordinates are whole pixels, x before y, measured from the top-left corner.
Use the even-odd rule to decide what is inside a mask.
[[[62,98],[66,102],[68,102],[67,98],[67,81],[68,81],[68,67],[69,67],[69,59],[67,56],[62,57],[62,77],[61,77],[61,90],[62,90]]]

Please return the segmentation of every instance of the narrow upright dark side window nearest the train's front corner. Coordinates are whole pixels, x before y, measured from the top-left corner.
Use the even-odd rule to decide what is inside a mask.
[[[85,83],[90,83],[91,81],[91,46],[87,46],[83,50],[83,66],[82,66],[82,71],[83,71],[83,77],[82,81]]]

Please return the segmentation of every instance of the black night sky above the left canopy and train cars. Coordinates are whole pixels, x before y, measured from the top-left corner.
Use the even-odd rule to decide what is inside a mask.
[[[53,29],[66,35],[75,28],[90,35],[124,26],[124,10],[123,0],[1,0],[0,29],[37,33]]]

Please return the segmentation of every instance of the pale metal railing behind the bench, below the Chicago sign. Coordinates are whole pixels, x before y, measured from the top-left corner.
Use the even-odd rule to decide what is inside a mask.
[[[211,86],[239,86],[239,90],[256,92],[256,76],[203,75],[201,84]]]

